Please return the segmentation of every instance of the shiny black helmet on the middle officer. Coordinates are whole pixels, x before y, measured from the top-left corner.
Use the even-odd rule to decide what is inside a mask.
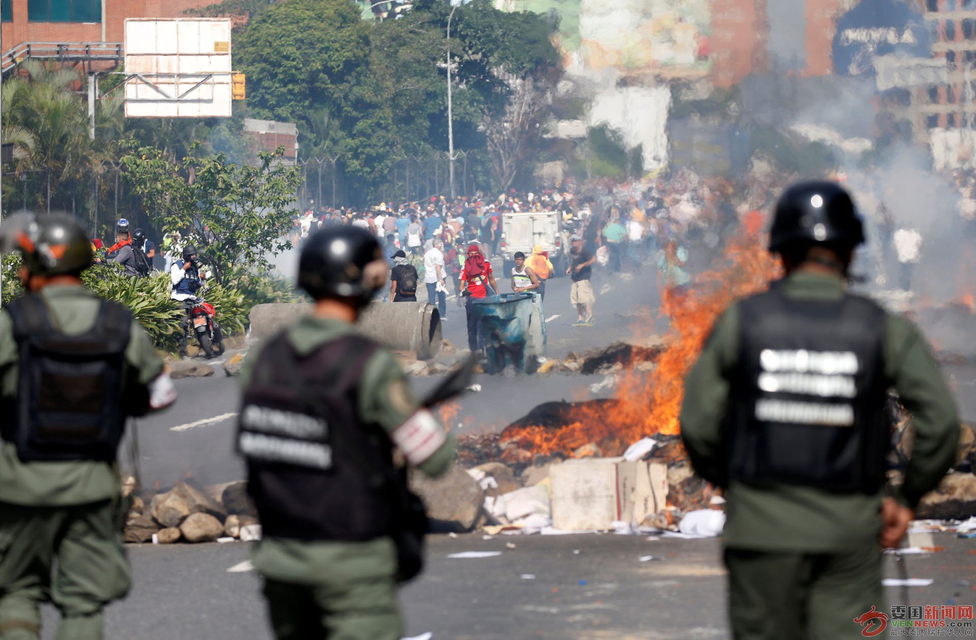
[[[366,273],[371,262],[383,260],[376,237],[358,226],[330,225],[305,241],[299,257],[299,287],[315,300],[328,296],[366,304],[383,283]],[[386,278],[386,265],[383,277]]]

